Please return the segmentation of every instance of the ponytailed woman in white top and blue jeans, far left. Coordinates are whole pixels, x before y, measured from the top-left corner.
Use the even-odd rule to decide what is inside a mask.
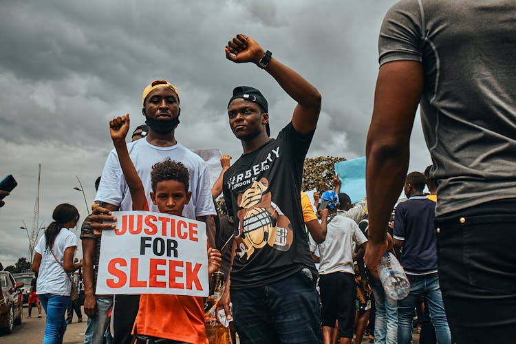
[[[74,264],[77,237],[67,228],[76,226],[79,213],[72,204],[59,204],[52,214],[54,221],[45,230],[34,249],[32,271],[38,276],[37,294],[47,314],[43,344],[61,344],[66,330],[65,310],[68,307],[72,282],[68,273],[80,268]]]

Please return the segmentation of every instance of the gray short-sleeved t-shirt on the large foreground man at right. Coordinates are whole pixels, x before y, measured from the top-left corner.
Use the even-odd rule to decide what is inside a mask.
[[[380,65],[424,67],[437,215],[516,197],[516,1],[403,0],[378,45]]]

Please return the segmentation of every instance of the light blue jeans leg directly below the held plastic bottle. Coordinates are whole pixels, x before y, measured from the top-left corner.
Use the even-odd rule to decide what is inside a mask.
[[[382,283],[374,277],[369,278],[376,305],[374,320],[374,343],[398,343],[398,304],[396,300],[385,297]]]

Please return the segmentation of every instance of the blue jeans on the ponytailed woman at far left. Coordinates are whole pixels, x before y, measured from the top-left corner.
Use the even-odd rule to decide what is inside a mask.
[[[43,344],[61,344],[66,331],[65,312],[70,297],[54,294],[38,294],[47,314]]]

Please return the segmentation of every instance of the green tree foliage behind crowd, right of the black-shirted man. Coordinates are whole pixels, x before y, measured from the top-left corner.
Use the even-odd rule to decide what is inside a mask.
[[[303,165],[303,191],[317,189],[324,192],[333,190],[334,164],[346,160],[336,156],[318,156],[306,158]]]

